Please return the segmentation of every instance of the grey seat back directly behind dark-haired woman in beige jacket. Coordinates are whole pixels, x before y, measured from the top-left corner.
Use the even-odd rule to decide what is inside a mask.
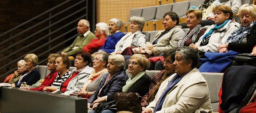
[[[163,20],[163,15],[166,12],[173,10],[173,4],[159,5],[156,12],[156,19]]]

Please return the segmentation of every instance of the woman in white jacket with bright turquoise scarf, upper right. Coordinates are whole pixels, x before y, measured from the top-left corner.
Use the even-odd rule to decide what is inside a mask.
[[[215,14],[215,25],[211,25],[197,43],[190,44],[189,47],[198,50],[198,52],[218,52],[219,44],[225,43],[230,34],[239,27],[235,22],[233,12],[226,5],[219,5],[213,9]]]

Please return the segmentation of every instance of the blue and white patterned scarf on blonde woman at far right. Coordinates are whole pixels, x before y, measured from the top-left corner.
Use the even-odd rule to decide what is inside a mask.
[[[242,27],[242,25],[240,25],[239,29],[231,33],[231,36],[228,37],[225,43],[241,43],[241,40],[243,39],[243,37],[250,34],[250,30],[255,25],[256,25],[256,21],[252,21],[252,23],[250,23],[250,25],[248,25],[247,27]]]

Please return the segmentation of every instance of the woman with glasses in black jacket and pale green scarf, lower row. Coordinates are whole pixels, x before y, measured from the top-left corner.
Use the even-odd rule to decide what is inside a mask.
[[[147,57],[141,54],[134,54],[130,58],[128,66],[128,72],[131,76],[126,81],[126,85],[119,89],[119,92],[138,93],[140,96],[145,95],[149,90],[149,85],[151,84],[151,78],[145,72],[148,67],[149,61]],[[114,100],[114,95],[108,95],[108,101],[109,100]],[[108,111],[108,113],[115,113],[109,109],[102,112],[106,111]],[[93,111],[90,113],[93,113]]]

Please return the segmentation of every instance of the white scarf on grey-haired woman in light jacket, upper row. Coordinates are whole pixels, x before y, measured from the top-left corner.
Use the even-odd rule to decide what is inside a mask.
[[[134,32],[134,33],[129,32],[129,33],[127,33],[126,35],[124,35],[124,36],[120,39],[120,41],[117,42],[117,45],[115,45],[115,52],[119,51],[120,44],[121,44],[125,39],[126,39],[126,40],[125,40],[125,42],[124,42],[124,44],[123,44],[123,46],[122,46],[122,48],[121,48],[121,51],[123,51],[123,50],[124,50],[125,48],[127,48],[127,47],[130,47],[131,44],[132,44],[132,39],[134,38],[134,36],[135,36],[135,34],[136,34],[137,32],[141,32],[141,30],[138,30],[138,31],[136,31],[136,32]]]

